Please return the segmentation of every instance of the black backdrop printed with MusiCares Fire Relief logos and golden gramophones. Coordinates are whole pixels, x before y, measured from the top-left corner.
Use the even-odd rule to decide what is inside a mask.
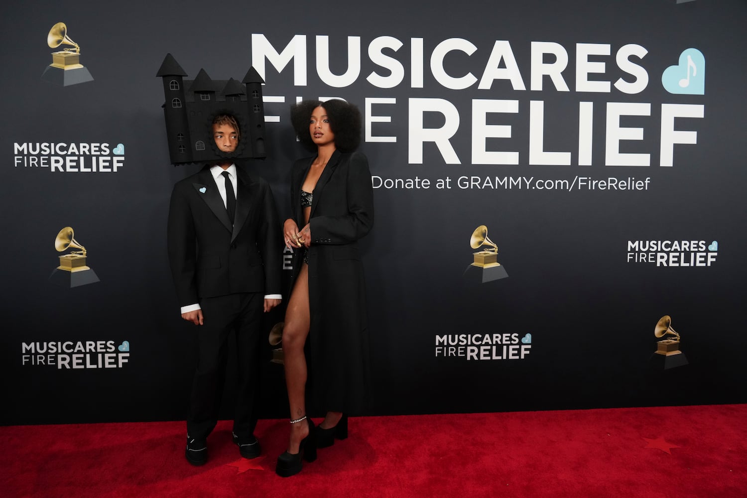
[[[289,106],[361,109],[371,414],[747,402],[743,0],[265,3],[1,7],[0,423],[184,417],[167,53],[264,79],[283,214]]]

